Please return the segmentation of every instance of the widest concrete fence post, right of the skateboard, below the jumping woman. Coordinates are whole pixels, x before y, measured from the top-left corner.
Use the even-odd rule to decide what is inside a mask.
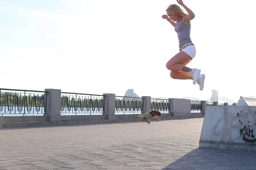
[[[186,116],[191,113],[191,100],[189,99],[175,99],[171,100],[171,113],[173,116]]]

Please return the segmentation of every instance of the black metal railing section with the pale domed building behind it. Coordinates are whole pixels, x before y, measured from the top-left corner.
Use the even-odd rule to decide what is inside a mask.
[[[116,96],[115,114],[134,114],[143,112],[145,98]]]

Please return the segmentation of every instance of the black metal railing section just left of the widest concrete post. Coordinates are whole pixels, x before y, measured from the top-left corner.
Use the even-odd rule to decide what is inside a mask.
[[[151,111],[160,111],[161,113],[170,113],[171,100],[151,98]]]

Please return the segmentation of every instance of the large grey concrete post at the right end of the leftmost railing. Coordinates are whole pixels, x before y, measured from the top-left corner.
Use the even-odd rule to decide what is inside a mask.
[[[46,113],[52,122],[57,116],[61,116],[61,90],[45,89],[44,91],[49,91],[47,94]]]

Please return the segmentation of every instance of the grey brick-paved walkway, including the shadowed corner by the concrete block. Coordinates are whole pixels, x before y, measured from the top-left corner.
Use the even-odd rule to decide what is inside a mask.
[[[203,118],[0,130],[1,170],[256,170],[256,152],[198,148]]]

